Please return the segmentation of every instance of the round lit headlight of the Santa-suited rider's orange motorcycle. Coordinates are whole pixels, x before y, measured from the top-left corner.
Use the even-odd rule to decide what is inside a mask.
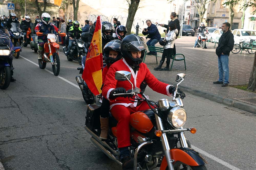
[[[175,128],[182,127],[187,121],[187,113],[181,107],[172,108],[168,114],[167,121]]]

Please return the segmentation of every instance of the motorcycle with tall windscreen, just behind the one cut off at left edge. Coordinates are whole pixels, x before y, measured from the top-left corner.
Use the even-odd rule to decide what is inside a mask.
[[[12,27],[11,27],[9,33],[10,33],[10,36],[12,38],[13,45],[15,47],[20,47],[20,44],[22,44],[22,41],[24,39],[23,38],[24,35],[22,35],[22,30],[19,28],[20,24],[12,22],[11,25],[12,25]],[[19,58],[19,51],[14,54],[14,57]]]

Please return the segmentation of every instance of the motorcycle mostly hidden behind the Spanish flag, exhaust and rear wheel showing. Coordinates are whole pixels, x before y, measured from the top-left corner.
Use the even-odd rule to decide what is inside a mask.
[[[86,56],[82,56],[82,67],[78,67],[77,70],[79,71],[79,74],[83,74],[83,70],[84,70],[84,66],[85,66],[85,61],[86,61]],[[82,91],[82,96],[84,101],[87,104],[93,104],[96,101],[98,101],[97,97],[93,95],[93,93],[91,92],[91,90],[88,88],[87,84],[85,83],[85,81],[80,77],[80,76],[76,76],[76,81],[77,84],[79,85],[81,91]]]

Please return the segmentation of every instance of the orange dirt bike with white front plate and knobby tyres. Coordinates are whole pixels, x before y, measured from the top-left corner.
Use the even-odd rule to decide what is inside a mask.
[[[47,35],[47,42],[44,44],[44,50],[42,52],[42,59],[38,60],[40,69],[45,69],[47,62],[52,65],[52,71],[54,75],[59,75],[60,73],[60,58],[58,49],[60,45],[56,43],[57,37],[55,34],[43,34],[41,32],[36,33],[38,36]],[[59,36],[66,36],[66,33],[59,33]]]

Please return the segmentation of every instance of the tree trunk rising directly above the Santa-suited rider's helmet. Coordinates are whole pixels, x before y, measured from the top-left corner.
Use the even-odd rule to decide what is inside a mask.
[[[129,35],[129,34],[131,34],[133,19],[134,19],[134,16],[136,14],[136,11],[138,9],[140,0],[131,0],[130,1],[131,3],[128,0],[126,0],[126,1],[129,4],[129,9],[128,9],[128,17],[127,17],[127,22],[126,22],[125,27],[127,29],[127,34],[126,35]]]

